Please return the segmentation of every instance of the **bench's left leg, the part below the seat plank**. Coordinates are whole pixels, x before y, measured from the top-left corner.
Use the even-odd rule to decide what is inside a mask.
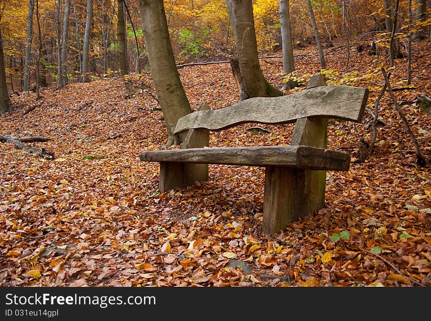
[[[187,187],[208,180],[208,164],[160,163],[159,192]]]

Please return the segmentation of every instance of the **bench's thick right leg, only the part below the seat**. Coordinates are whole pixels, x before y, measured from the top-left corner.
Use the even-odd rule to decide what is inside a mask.
[[[323,208],[325,176],[325,171],[266,167],[263,232],[278,233],[289,223]]]

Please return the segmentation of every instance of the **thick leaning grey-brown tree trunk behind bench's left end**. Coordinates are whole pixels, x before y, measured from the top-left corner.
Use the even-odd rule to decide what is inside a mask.
[[[178,145],[182,137],[173,135],[175,125],[192,108],[176,68],[163,0],[140,0],[139,9],[151,76],[168,129],[166,145]]]

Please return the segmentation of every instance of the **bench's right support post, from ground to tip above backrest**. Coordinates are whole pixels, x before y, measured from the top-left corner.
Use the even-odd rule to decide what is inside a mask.
[[[311,77],[308,88],[326,86],[323,75]],[[290,145],[328,147],[327,118],[300,118]],[[287,224],[325,207],[326,171],[267,167],[263,232],[273,234]]]

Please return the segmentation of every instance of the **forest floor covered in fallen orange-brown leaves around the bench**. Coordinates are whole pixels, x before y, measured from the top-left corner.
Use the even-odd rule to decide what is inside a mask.
[[[314,47],[295,54],[305,80],[319,72]],[[343,47],[325,58],[328,84],[369,86],[374,110],[384,83],[376,56],[353,48],[348,77]],[[281,58],[261,66],[281,87]],[[395,91],[428,164],[416,164],[386,92],[374,153],[357,162],[360,139],[372,137],[369,113],[356,128],[332,122],[329,148],[351,155],[350,170],[328,171],[326,207],[277,235],[261,231],[264,168],[210,165],[209,182],[158,193],[159,164],[138,157],[167,139],[148,73],[41,88],[41,100],[12,95],[0,135],[49,137],[27,145],[55,159],[0,144],[0,285],[430,286],[431,115],[415,104],[431,94],[430,66],[429,43],[413,43],[413,86]],[[192,109],[238,101],[229,64],[179,73]],[[391,73],[392,86],[405,85],[407,59]],[[287,145],[294,125],[260,135],[249,126],[212,132],[210,146]]]

